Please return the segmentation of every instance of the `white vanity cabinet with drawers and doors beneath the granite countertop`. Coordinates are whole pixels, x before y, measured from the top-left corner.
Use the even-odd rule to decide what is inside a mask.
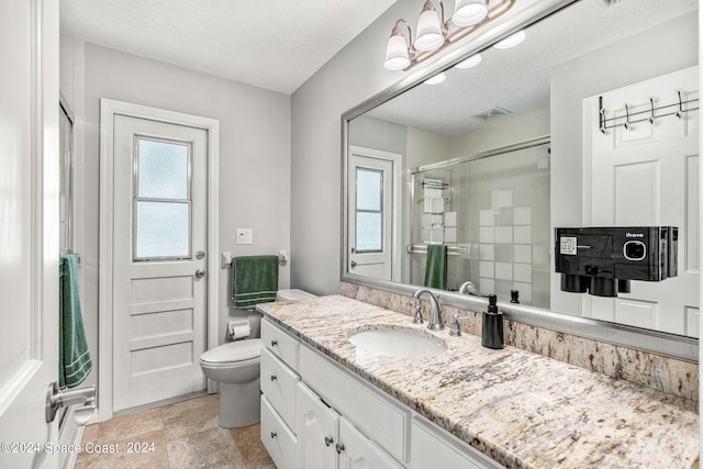
[[[261,440],[279,469],[502,467],[268,319],[261,339]]]

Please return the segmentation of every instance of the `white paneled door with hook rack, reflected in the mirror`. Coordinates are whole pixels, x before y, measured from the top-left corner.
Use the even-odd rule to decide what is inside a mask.
[[[585,100],[584,125],[591,134],[587,145],[591,183],[584,185],[590,201],[591,226],[678,226],[678,277],[661,282],[633,281],[631,293],[618,298],[584,295],[584,315],[605,321],[698,335],[699,324],[699,131],[700,113],[690,111],[647,121],[657,111],[674,113],[682,100],[699,98],[698,67],[665,75],[602,94],[603,107],[621,110],[631,120],[644,119],[606,134],[593,130],[599,122],[599,97]],[[683,104],[698,108],[698,103]],[[643,114],[636,114],[643,112]],[[624,122],[621,120],[618,122]],[[589,148],[590,147],[590,148]],[[588,159],[587,159],[588,160]],[[588,211],[587,211],[588,213]]]

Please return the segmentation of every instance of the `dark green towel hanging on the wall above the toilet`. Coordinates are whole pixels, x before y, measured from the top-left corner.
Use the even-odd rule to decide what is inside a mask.
[[[276,300],[278,256],[242,256],[232,259],[234,308],[250,310]]]

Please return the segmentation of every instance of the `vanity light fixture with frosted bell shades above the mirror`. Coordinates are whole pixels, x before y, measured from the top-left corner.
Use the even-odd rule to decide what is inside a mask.
[[[439,13],[433,0],[425,0],[414,41],[410,23],[404,19],[395,22],[386,47],[383,66],[387,69],[413,67],[501,16],[517,0],[455,0],[454,14],[449,20],[445,20],[443,0],[436,1],[439,2]],[[408,37],[403,35],[403,24],[408,29]]]

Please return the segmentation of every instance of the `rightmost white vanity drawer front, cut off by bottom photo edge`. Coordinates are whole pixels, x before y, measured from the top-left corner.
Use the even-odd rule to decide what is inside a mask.
[[[412,432],[412,445],[410,445],[412,469],[498,469],[503,467],[424,418],[413,420]]]

